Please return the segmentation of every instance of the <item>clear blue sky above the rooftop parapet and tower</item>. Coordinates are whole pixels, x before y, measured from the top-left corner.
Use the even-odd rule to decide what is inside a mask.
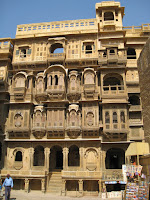
[[[15,38],[18,24],[95,18],[100,0],[0,0],[0,38]],[[120,0],[123,26],[150,23],[150,0]]]

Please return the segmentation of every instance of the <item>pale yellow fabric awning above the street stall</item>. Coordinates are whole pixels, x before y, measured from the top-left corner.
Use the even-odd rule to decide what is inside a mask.
[[[131,143],[125,153],[125,156],[138,156],[149,154],[149,144],[146,142]]]

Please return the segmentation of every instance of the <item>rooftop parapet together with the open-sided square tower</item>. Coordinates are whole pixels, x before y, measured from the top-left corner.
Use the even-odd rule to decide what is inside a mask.
[[[22,24],[17,26],[16,38],[54,37],[72,34],[88,34],[123,31],[125,36],[141,36],[150,31],[150,24],[138,27],[123,27],[124,7],[119,2],[96,3],[96,18],[68,21]]]

